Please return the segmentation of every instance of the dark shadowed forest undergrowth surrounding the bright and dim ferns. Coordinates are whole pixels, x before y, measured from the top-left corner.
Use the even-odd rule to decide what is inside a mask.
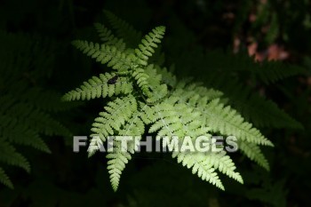
[[[0,2],[0,30],[44,43],[44,52],[28,55],[31,60],[52,58],[44,68],[36,70],[35,84],[64,93],[104,69],[70,44],[76,38],[98,40],[92,24],[105,23],[103,9],[116,13],[143,33],[165,25],[165,61],[175,64],[179,76],[209,79],[206,70],[217,63],[210,64],[200,55],[216,49],[227,56],[248,52],[257,61],[279,60],[305,68],[306,72],[299,76],[268,85],[241,75],[253,92],[274,100],[302,123],[304,130],[262,129],[275,143],[274,148],[264,151],[271,171],[238,157],[237,166],[245,184],[224,178],[225,192],[196,178],[169,155],[139,154],[128,164],[114,193],[104,155],[88,159],[86,149],[79,154],[72,152],[72,137],[47,137],[44,140],[52,154],[22,148],[32,167],[30,174],[8,168],[14,189],[0,186],[0,207],[310,205],[310,1],[4,0]],[[73,134],[88,135],[103,103],[94,100],[78,105],[55,117]]]

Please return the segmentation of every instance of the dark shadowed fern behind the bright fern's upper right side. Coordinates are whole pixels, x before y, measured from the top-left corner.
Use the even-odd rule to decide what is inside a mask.
[[[203,73],[205,76],[198,78],[203,80],[204,85],[224,92],[227,103],[256,127],[303,128],[301,123],[291,118],[273,101],[254,92],[249,84],[241,84],[245,79],[252,83],[253,79],[248,78],[250,76],[265,84],[273,84],[283,78],[303,73],[303,68],[282,62],[256,63],[243,53],[213,51],[204,54],[200,48],[179,54],[179,60],[180,70],[192,68],[193,74]]]

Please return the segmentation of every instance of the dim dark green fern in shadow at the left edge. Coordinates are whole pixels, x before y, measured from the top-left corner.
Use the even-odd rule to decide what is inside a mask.
[[[44,137],[70,136],[70,131],[56,121],[53,115],[72,105],[64,105],[60,102],[59,93],[44,91],[39,86],[38,82],[46,74],[38,71],[42,68],[49,70],[49,62],[46,61],[46,57],[52,53],[51,48],[46,49],[49,44],[44,44],[47,50],[45,53],[39,50],[41,44],[36,41],[38,38],[2,31],[0,37],[3,41],[0,61],[4,64],[0,68],[0,182],[13,188],[5,168],[12,165],[30,172],[30,164],[22,155],[21,147],[51,153]]]

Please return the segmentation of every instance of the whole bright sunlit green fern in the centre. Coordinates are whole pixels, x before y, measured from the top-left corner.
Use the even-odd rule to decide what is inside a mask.
[[[170,140],[174,136],[195,139],[201,135],[211,139],[213,134],[233,135],[243,154],[268,170],[267,159],[259,146],[273,147],[273,143],[252,123],[245,121],[238,111],[227,105],[230,99],[227,99],[226,94],[192,79],[177,79],[167,68],[149,62],[161,43],[164,27],[152,29],[137,48],[126,45],[124,49],[119,44],[124,43],[122,37],[133,36],[136,32],[111,12],[106,14],[121,39],[116,39],[110,30],[97,24],[104,44],[74,41],[74,45],[93,59],[108,64],[112,70],[99,77],[92,77],[80,88],[65,94],[63,100],[111,99],[92,123],[93,133],[88,151],[89,155],[93,155],[99,150],[96,143],[113,137],[115,150],[108,152],[107,157],[108,173],[114,190],[119,185],[126,163],[137,151],[134,144],[127,151],[121,150],[121,142],[114,136],[137,136],[141,139],[145,128],[148,133],[156,133],[157,139],[163,136]],[[125,28],[129,28],[129,36],[126,36]],[[133,42],[136,42],[135,38]],[[131,41],[126,39],[125,42]],[[114,83],[108,84],[116,76],[118,78],[114,79]],[[220,189],[225,187],[219,179],[219,171],[243,183],[235,163],[225,151],[190,153],[173,150],[172,157]]]

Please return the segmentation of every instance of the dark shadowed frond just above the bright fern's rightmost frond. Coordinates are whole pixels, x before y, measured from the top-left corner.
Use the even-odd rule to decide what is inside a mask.
[[[227,81],[228,77],[219,75],[210,76],[211,86],[219,88],[226,94],[228,104],[238,110],[245,119],[258,127],[292,128],[301,129],[303,126],[271,100],[266,100],[259,94],[251,92],[250,87],[245,87],[238,81]]]

